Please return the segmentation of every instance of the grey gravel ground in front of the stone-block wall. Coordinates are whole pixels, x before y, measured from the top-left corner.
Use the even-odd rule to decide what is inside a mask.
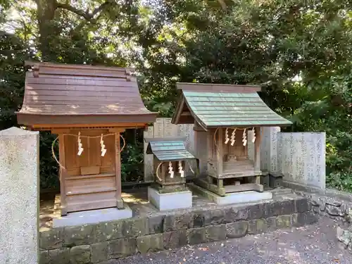
[[[250,235],[241,239],[185,246],[136,255],[116,264],[349,264],[352,254],[339,244],[336,223],[321,218],[316,225]]]

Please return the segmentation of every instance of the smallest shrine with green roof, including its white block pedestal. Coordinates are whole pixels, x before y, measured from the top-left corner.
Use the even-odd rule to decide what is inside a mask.
[[[186,187],[185,168],[196,159],[180,139],[145,139],[146,153],[153,154],[154,184],[148,198],[159,210],[191,208],[192,195]],[[194,168],[196,172],[196,168]]]

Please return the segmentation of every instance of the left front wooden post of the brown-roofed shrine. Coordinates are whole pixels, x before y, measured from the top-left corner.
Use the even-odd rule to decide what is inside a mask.
[[[58,135],[58,159],[60,164],[64,168],[59,168],[60,175],[60,196],[61,196],[61,215],[67,215],[67,201],[66,201],[66,188],[65,188],[65,178],[67,172],[65,170],[65,136],[63,134]]]

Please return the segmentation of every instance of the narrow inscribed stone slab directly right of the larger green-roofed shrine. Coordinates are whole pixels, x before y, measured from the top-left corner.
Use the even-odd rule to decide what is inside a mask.
[[[260,170],[279,172],[277,140],[280,127],[261,127]]]

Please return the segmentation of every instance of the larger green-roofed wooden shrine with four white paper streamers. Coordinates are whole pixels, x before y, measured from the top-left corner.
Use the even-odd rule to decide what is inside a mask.
[[[220,196],[237,191],[263,191],[260,127],[287,126],[291,122],[260,99],[257,86],[178,83],[177,88],[182,95],[172,123],[194,123],[196,137],[206,134],[205,140],[196,144],[196,153],[206,153],[196,156],[200,163],[206,163],[206,178],[195,183]],[[249,132],[254,143],[253,161],[248,153]]]

